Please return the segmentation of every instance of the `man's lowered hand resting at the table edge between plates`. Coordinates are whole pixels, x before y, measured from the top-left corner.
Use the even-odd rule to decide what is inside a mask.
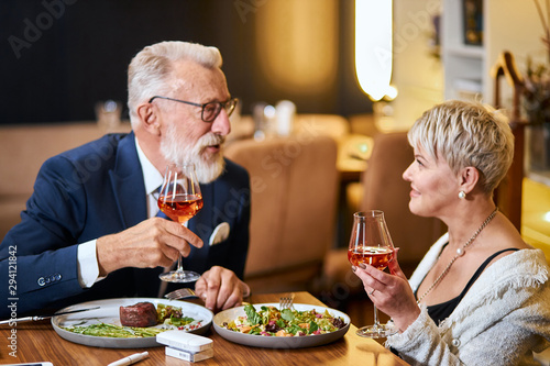
[[[195,292],[205,300],[205,307],[216,312],[240,306],[250,288],[232,270],[215,266],[200,276]]]

